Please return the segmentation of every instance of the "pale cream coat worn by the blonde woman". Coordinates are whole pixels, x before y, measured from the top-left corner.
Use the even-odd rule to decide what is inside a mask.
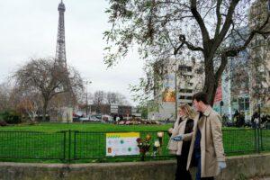
[[[179,124],[180,119],[182,119],[183,121],[181,121]],[[188,118],[186,118],[184,116],[177,117],[177,119],[175,121],[174,129],[172,131],[171,138],[181,134],[181,135],[183,135],[184,141],[188,141],[188,140],[192,139],[193,133],[184,134],[185,124],[186,124],[187,120],[188,120]],[[183,141],[175,141],[173,139],[170,139],[168,142],[167,148],[170,150],[171,154],[181,155],[182,146],[183,146]]]

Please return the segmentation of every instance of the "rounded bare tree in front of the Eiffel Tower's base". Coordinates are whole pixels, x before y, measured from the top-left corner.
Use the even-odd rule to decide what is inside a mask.
[[[42,97],[42,120],[45,121],[49,101],[60,94],[75,101],[82,91],[82,78],[73,67],[61,67],[52,58],[31,59],[14,73],[16,85],[24,92],[39,92]]]

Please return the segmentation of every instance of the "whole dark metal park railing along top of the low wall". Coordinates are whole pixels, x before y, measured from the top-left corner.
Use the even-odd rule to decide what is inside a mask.
[[[225,154],[242,155],[270,151],[270,130],[222,130]],[[138,161],[139,155],[106,156],[107,131],[64,130],[59,132],[0,131],[0,160],[9,158],[58,159],[63,162]],[[112,132],[110,132],[112,133]],[[116,132],[121,133],[121,132]],[[166,148],[169,135],[164,132],[161,148],[153,151],[157,131],[139,131],[139,137],[151,136],[151,147],[146,159],[170,159]],[[90,160],[90,161],[89,161]]]

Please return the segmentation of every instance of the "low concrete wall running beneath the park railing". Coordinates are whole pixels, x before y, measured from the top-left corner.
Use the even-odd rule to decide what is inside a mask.
[[[270,175],[270,153],[229,157],[227,166],[216,179]],[[175,160],[76,165],[0,163],[0,180],[173,180],[174,174]]]

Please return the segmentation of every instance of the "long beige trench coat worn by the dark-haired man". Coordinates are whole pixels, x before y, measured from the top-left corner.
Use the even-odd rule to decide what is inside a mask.
[[[202,118],[199,120],[199,115],[194,119],[193,137],[191,148],[187,159],[187,169],[189,169],[193,157],[194,141],[198,128],[201,130],[201,158],[202,158],[202,177],[218,175],[220,172],[218,162],[225,161],[221,118],[220,115],[211,109],[209,106],[203,112]]]

